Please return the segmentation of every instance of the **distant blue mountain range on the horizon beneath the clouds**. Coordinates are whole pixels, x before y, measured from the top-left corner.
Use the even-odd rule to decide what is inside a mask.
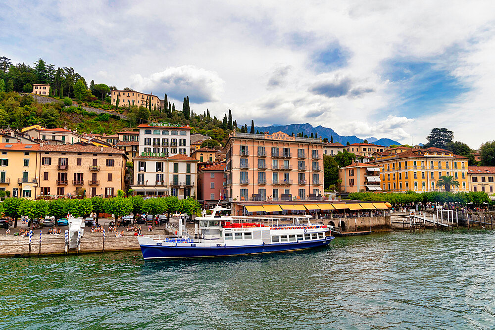
[[[342,144],[346,145],[347,141],[349,143],[359,143],[364,140],[367,140],[369,143],[375,143],[378,145],[384,145],[384,146],[389,146],[391,144],[397,144],[400,145],[400,142],[391,140],[391,139],[377,139],[374,137],[368,138],[368,139],[359,139],[355,135],[351,136],[341,136],[335,133],[334,130],[328,127],[323,127],[321,125],[317,127],[313,127],[311,124],[291,124],[291,125],[272,125],[272,126],[263,126],[263,127],[254,127],[255,130],[258,130],[260,132],[269,132],[269,133],[274,133],[274,132],[279,132],[282,131],[284,133],[287,133],[291,135],[292,133],[296,134],[297,133],[304,133],[308,137],[311,135],[311,133],[317,133],[318,137],[321,138],[328,138],[328,141],[330,141],[330,137],[334,138],[334,142],[341,142]]]

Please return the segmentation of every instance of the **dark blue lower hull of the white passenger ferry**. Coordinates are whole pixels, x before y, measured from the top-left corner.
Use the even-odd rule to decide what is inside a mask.
[[[223,257],[309,249],[328,245],[334,238],[335,237],[327,237],[325,239],[295,243],[226,247],[141,245],[141,251],[143,252],[143,258],[145,259]]]

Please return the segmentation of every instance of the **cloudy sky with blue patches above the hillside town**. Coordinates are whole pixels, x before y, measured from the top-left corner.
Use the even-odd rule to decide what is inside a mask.
[[[0,55],[257,126],[494,140],[495,1],[6,1]]]

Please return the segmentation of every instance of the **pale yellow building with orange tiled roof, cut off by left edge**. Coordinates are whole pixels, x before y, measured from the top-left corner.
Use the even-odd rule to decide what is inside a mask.
[[[0,143],[0,190],[12,197],[34,199],[39,167],[39,144]]]

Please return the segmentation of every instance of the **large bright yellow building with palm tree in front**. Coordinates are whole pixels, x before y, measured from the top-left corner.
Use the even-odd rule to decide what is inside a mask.
[[[369,165],[381,167],[382,189],[389,191],[443,191],[436,187],[438,179],[451,175],[459,187],[451,191],[469,191],[468,158],[439,148],[414,149],[397,154],[376,155]]]

